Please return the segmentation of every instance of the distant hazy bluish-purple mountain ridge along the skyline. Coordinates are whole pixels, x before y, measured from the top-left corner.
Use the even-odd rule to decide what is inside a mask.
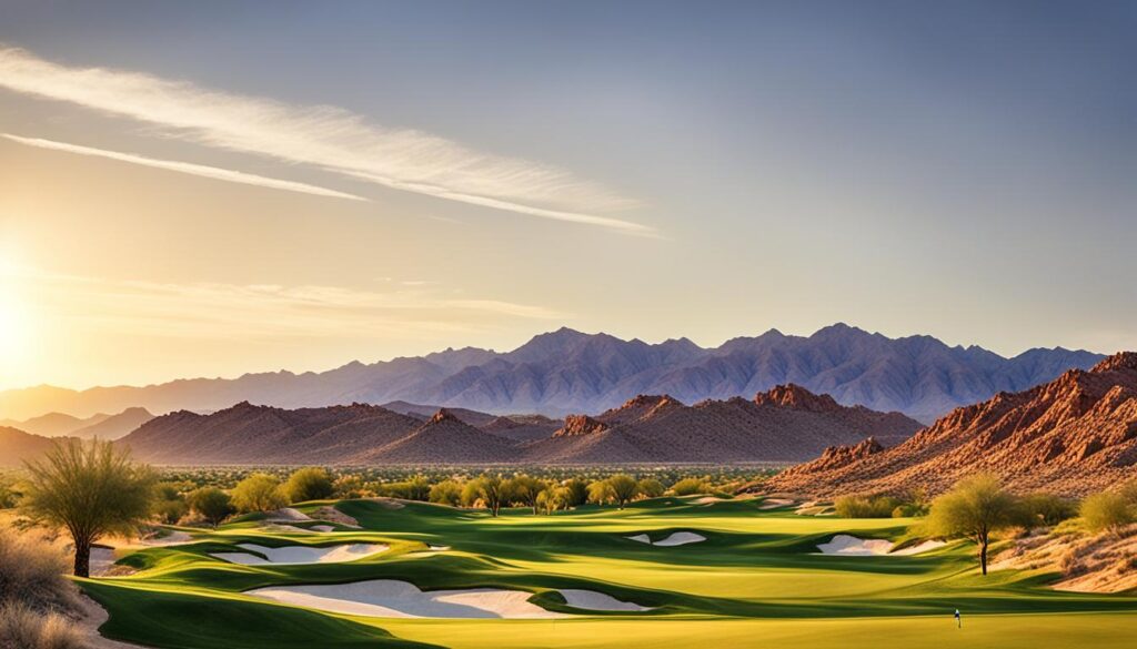
[[[771,330],[712,349],[687,339],[649,344],[570,328],[534,336],[508,352],[448,349],[322,373],[276,372],[239,378],[191,378],[84,391],[39,386],[0,392],[0,415],[86,415],[144,407],[153,413],[211,411],[238,401],[282,408],[406,401],[495,415],[561,417],[599,413],[636,394],[704,399],[753,396],[796,383],[840,405],[897,410],[923,422],[958,406],[1020,391],[1104,358],[1062,348],[1004,358],[979,347],[948,347],[931,336],[889,339],[845,324],[810,336]]]

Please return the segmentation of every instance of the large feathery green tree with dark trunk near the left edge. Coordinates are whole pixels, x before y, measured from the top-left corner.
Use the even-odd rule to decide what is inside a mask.
[[[132,534],[150,516],[155,473],[110,442],[56,442],[41,460],[26,466],[26,513],[33,521],[67,530],[75,543],[76,576],[90,576],[91,544],[100,536]]]

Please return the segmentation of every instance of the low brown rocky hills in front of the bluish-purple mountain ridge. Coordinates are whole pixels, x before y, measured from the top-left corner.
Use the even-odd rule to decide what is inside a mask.
[[[157,464],[639,464],[799,461],[869,435],[899,443],[920,423],[840,406],[798,385],[687,406],[638,396],[595,417],[493,416],[395,403],[283,409],[241,402],[156,417],[118,443]]]

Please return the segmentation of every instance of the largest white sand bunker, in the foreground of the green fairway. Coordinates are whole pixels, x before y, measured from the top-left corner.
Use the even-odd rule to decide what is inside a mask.
[[[531,604],[531,592],[496,589],[421,591],[412,583],[396,580],[274,586],[250,590],[246,594],[281,604],[371,617],[567,617]]]

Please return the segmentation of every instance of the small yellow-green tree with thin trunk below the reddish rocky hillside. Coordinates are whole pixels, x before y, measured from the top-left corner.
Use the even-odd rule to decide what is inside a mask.
[[[978,474],[955,483],[932,500],[929,531],[939,536],[963,536],[979,547],[979,566],[987,574],[987,548],[991,533],[1022,521],[1019,499],[1005,491],[994,475]]]

